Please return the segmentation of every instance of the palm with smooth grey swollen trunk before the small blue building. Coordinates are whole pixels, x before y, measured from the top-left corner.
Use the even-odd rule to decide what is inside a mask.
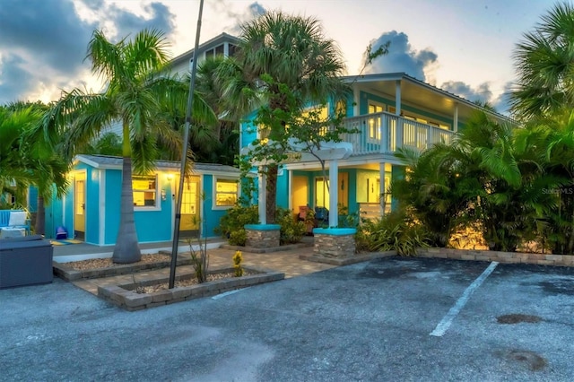
[[[93,32],[87,58],[91,69],[106,82],[106,89],[91,93],[65,92],[50,110],[46,126],[66,132],[65,152],[72,155],[100,132],[119,121],[122,126],[122,194],[120,224],[113,261],[133,263],[141,258],[134,221],[132,166],[137,173],[154,169],[158,144],[180,152],[181,135],[171,128],[165,105],[185,110],[187,84],[162,72],[169,60],[168,44],[159,30],[142,30],[132,40],[112,43],[100,30]],[[213,111],[195,98],[193,116],[213,122]]]

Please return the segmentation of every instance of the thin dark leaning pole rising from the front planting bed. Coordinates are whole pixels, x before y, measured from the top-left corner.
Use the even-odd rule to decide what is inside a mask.
[[[181,199],[183,194],[183,181],[186,175],[187,141],[189,140],[189,125],[191,123],[191,108],[194,103],[196,89],[197,49],[199,48],[199,32],[201,31],[201,15],[204,12],[204,0],[199,1],[199,15],[197,16],[196,48],[194,48],[194,61],[191,63],[191,79],[189,80],[189,95],[187,96],[186,125],[183,134],[183,148],[181,151],[181,168],[179,169],[178,195],[176,197],[176,217],[173,224],[173,244],[171,246],[170,289],[176,279],[176,265],[178,262],[179,223],[181,222]]]

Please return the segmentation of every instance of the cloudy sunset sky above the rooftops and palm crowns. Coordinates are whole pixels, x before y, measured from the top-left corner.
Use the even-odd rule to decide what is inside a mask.
[[[405,72],[505,111],[515,77],[512,51],[550,0],[205,0],[200,41],[270,10],[314,16],[341,48],[348,74],[365,49],[390,52],[365,73]],[[94,29],[120,39],[163,30],[172,56],[193,48],[199,0],[0,0],[0,104],[57,100],[62,90],[100,90],[83,60]]]

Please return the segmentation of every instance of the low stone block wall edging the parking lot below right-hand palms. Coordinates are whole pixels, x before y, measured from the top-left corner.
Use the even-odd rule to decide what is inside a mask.
[[[574,266],[574,256],[521,252],[482,251],[453,248],[418,248],[419,257],[441,257],[457,260],[497,261],[509,264]]]

